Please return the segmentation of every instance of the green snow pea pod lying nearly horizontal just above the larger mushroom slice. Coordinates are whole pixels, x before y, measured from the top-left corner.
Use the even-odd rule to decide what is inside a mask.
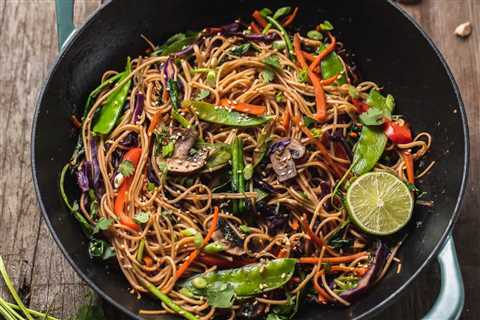
[[[203,101],[185,100],[183,105],[191,106],[200,120],[231,127],[256,127],[273,119],[272,116],[251,117]]]

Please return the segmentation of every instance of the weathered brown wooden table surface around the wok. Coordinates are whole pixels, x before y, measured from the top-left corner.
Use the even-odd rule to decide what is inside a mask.
[[[358,1],[358,0],[357,0]],[[380,1],[380,0],[379,0]],[[76,1],[82,22],[98,0]],[[480,314],[480,1],[423,0],[404,8],[425,28],[446,57],[467,108],[472,146],[470,181],[455,242],[465,280],[464,319]],[[465,21],[470,38],[453,35]],[[27,305],[50,308],[62,319],[82,303],[88,287],[63,258],[40,217],[30,168],[30,133],[35,98],[57,55],[53,0],[0,0],[0,254]],[[432,264],[379,319],[418,319],[430,308],[439,287]],[[6,296],[0,288],[0,294]],[[117,318],[116,318],[117,319]]]

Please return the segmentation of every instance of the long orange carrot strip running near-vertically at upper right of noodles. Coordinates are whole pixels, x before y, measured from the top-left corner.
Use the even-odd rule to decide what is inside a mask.
[[[308,77],[313,85],[313,90],[315,92],[315,104],[317,105],[317,114],[315,115],[315,120],[323,121],[327,117],[327,102],[325,100],[325,92],[323,91],[322,83],[320,78],[313,72],[315,67],[308,67],[305,57],[303,55],[300,36],[298,33],[293,37],[293,47],[295,49],[295,56],[300,64],[300,66],[305,69],[308,68]],[[317,56],[318,57],[318,56]]]

